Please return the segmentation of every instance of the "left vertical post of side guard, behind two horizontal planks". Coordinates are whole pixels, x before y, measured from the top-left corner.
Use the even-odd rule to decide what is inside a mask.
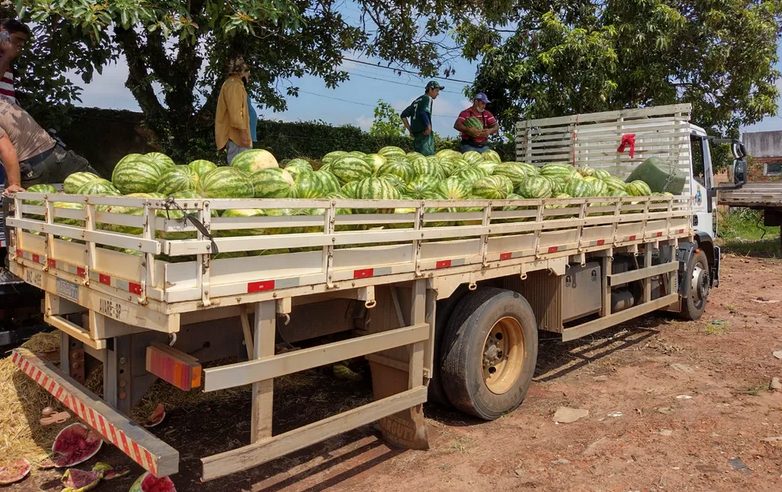
[[[266,360],[273,360],[274,337],[277,331],[277,304],[275,301],[262,301],[255,304],[254,325],[254,361],[263,363]],[[274,380],[269,377],[253,380],[250,442],[257,442],[272,435],[273,404]]]

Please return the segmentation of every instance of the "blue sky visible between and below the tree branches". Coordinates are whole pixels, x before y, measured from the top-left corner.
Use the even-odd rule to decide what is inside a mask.
[[[778,47],[777,52],[782,58],[782,45]],[[355,56],[350,58],[360,60]],[[453,66],[456,73],[452,78],[460,80],[474,78],[475,64],[466,60],[457,60]],[[332,125],[349,124],[368,130],[372,124],[373,109],[379,99],[390,103],[401,112],[414,98],[423,93],[423,87],[428,80],[411,74],[399,75],[382,67],[347,60],[342,68],[350,73],[350,80],[336,89],[327,88],[317,77],[281,82],[281,88],[287,85],[298,86],[299,97],[289,97],[287,111],[279,113],[256,105],[259,117],[282,121],[322,120]],[[106,67],[102,75],[96,76],[93,82],[87,85],[84,85],[78,77],[71,77],[74,83],[83,88],[80,106],[139,111],[136,101],[124,85],[126,78],[127,66],[124,60],[119,64]],[[456,136],[457,132],[453,129],[454,120],[462,109],[470,105],[470,101],[463,96],[465,84],[449,80],[439,80],[439,82],[445,86],[445,91],[440,93],[434,103],[434,130],[443,136]],[[782,92],[782,80],[777,81],[777,86]],[[782,111],[782,98],[779,104]],[[780,129],[782,129],[782,116],[774,116],[745,127],[742,131]]]

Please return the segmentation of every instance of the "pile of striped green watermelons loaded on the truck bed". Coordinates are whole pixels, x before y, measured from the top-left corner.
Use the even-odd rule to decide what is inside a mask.
[[[540,199],[647,196],[652,191],[640,180],[629,183],[604,170],[577,167],[568,163],[534,166],[524,162],[502,162],[490,150],[483,154],[441,150],[433,156],[405,152],[399,147],[383,147],[376,153],[334,151],[319,161],[292,159],[280,167],[276,158],[262,149],[239,154],[230,166],[217,166],[208,160],[176,164],[159,152],[129,154],[115,166],[111,180],[92,173],[78,172],[66,178],[66,193],[129,196],[137,198],[300,198],[300,199]],[[55,192],[51,185],[35,185],[35,192]],[[259,203],[260,205],[260,203]],[[80,208],[78,203],[57,203],[63,208]],[[454,209],[456,210],[456,209]],[[466,209],[460,209],[466,210]],[[141,215],[141,207],[104,206],[100,211]],[[380,212],[408,212],[384,208]],[[259,215],[299,215],[314,210],[237,209],[222,212],[223,217]],[[168,218],[183,217],[178,210],[159,211]],[[340,209],[338,213],[351,213]],[[75,219],[56,219],[79,225]],[[140,234],[140,227],[99,225],[114,232]],[[301,232],[286,229],[285,232]],[[276,233],[275,229],[235,231],[236,234]],[[221,232],[231,235],[231,231]],[[161,233],[166,239],[189,237],[182,233]]]

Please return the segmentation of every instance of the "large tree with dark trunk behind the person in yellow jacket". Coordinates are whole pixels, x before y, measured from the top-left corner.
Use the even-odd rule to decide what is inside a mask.
[[[360,14],[349,19],[340,0],[21,0],[20,17],[36,26],[21,86],[32,105],[71,102],[78,89],[62,79],[64,71],[75,70],[86,82],[106,63],[124,58],[125,85],[147,125],[165,150],[177,154],[194,138],[211,138],[225,63],[235,55],[251,68],[253,99],[273,110],[284,110],[286,97],[298,94],[286,83],[291,78],[316,75],[326,87],[347,80],[345,53],[412,66],[423,75],[452,73],[449,57],[458,50],[437,36],[452,25],[446,14],[459,18],[471,2],[356,4]]]

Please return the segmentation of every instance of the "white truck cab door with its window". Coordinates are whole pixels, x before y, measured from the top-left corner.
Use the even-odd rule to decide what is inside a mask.
[[[690,134],[690,193],[693,197],[693,227],[715,237],[714,220],[714,177],[712,174],[709,139],[705,132],[693,131]]]

